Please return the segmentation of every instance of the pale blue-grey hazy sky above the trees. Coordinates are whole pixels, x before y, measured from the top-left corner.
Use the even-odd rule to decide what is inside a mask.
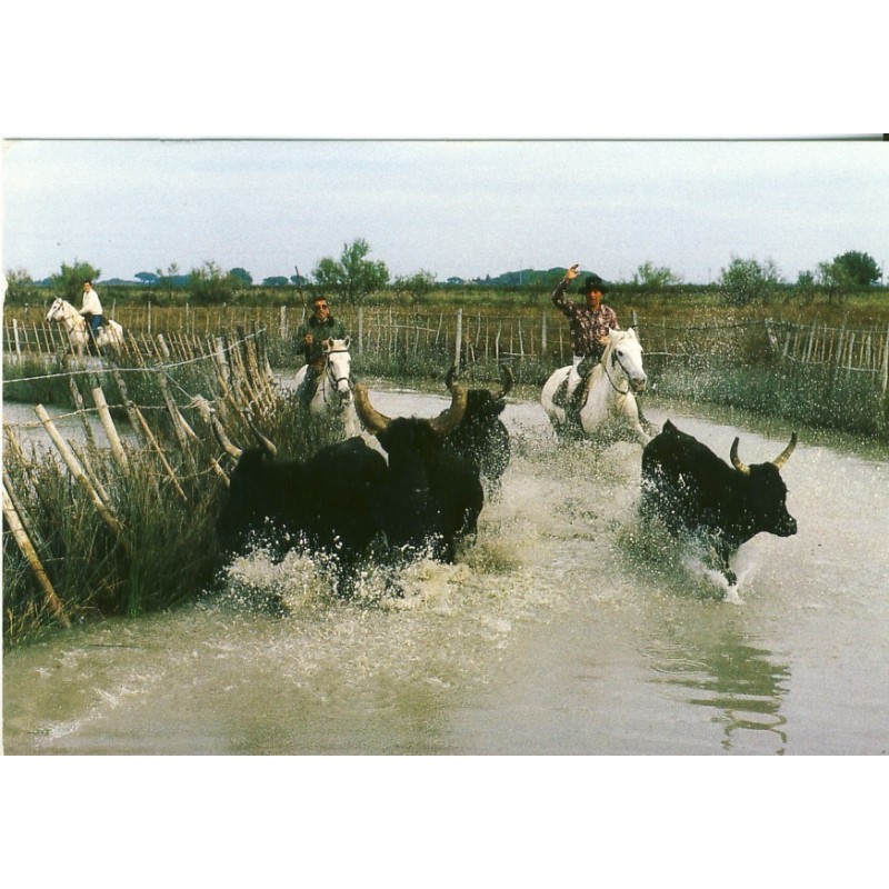
[[[706,283],[740,257],[792,282],[847,250],[885,267],[888,161],[863,139],[7,139],[2,269],[260,282],[363,238],[392,276],[653,262]]]

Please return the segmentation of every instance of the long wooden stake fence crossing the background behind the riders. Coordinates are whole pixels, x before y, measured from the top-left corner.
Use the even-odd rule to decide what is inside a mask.
[[[114,317],[124,328],[124,357],[166,360],[194,348],[208,337],[222,337],[238,327],[266,331],[273,358],[294,351],[293,337],[306,319],[304,308],[120,307]],[[571,360],[567,324],[551,307],[539,314],[499,314],[489,309],[428,311],[396,307],[341,307],[358,356],[407,356],[439,363],[502,361],[547,362],[561,367]],[[881,394],[889,382],[889,329],[852,329],[827,323],[785,320],[676,323],[639,318],[632,312],[648,360],[663,363],[720,354],[778,358],[797,364],[830,366],[848,373],[871,374]],[[56,356],[69,349],[64,331],[42,317],[4,318],[4,358]]]

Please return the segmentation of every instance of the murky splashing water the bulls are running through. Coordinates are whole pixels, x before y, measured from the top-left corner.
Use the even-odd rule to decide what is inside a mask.
[[[371,396],[392,416],[447,403]],[[669,417],[723,458],[740,434],[749,463],[790,431]],[[561,448],[537,403],[505,420],[502,497],[459,563],[417,563],[401,599],[370,572],[340,602],[322,567],[257,555],[182,610],[16,650],[6,752],[887,751],[885,459],[802,436],[782,472],[799,533],[742,547],[725,602],[693,557],[636,532],[638,447]]]

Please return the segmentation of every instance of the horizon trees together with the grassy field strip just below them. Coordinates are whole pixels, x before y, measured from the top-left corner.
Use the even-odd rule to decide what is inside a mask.
[[[107,303],[154,306],[292,306],[308,304],[311,296],[321,291],[340,306],[471,306],[532,307],[546,304],[549,293],[565,276],[566,269],[522,269],[497,277],[473,280],[449,278],[438,281],[432,271],[391,279],[386,262],[371,260],[370,244],[359,238],[344,243],[339,259],[324,257],[304,278],[296,274],[271,276],[261,284],[253,283],[247,269],[224,271],[217,262],[207,261],[189,273],[182,273],[176,262],[166,270],[140,271],[132,281],[101,281],[99,270],[86,262],[62,264],[61,271],[43,281],[33,281],[26,269],[7,272],[7,306],[46,302],[61,291],[68,299],[79,298],[80,283],[91,278],[101,288]],[[581,271],[581,278],[589,272]],[[878,287],[882,270],[868,253],[849,250],[816,269],[799,273],[796,283],[785,281],[771,259],[731,257],[713,284],[685,283],[680,276],[665,266],[646,260],[629,281],[612,281],[610,292],[619,299],[631,298],[636,306],[649,306],[651,300],[691,299],[730,308],[773,306],[796,302],[813,304],[827,301],[846,306],[863,293],[877,298],[886,290]]]

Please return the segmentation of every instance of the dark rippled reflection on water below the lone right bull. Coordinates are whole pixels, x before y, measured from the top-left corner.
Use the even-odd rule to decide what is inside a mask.
[[[720,711],[713,721],[722,725],[723,750],[743,749],[745,742],[736,733],[761,731],[775,736],[773,752],[785,752],[787,718],[781,703],[790,668],[773,662],[771,652],[726,630],[705,646],[679,643],[675,638],[657,640],[647,653],[658,673],[653,681],[700,692],[685,698],[686,702]]]

